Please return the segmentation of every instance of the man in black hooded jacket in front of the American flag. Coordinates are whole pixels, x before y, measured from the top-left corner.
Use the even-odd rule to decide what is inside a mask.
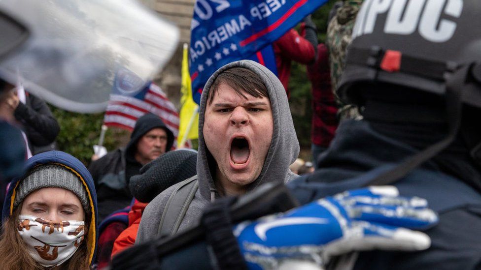
[[[97,189],[100,220],[130,205],[130,178],[143,165],[171,150],[174,140],[165,123],[150,113],[137,120],[130,138],[126,148],[111,151],[89,166]]]

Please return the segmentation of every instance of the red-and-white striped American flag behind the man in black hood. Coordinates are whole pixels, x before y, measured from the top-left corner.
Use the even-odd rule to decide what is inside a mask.
[[[175,136],[174,147],[179,133],[179,114],[165,92],[154,83],[135,95],[113,91],[110,94],[103,123],[106,126],[119,127],[132,131],[139,117],[146,113],[159,116]],[[190,142],[187,142],[190,147]]]

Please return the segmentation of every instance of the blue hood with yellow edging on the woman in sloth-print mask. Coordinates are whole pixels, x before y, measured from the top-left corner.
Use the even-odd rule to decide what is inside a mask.
[[[89,261],[90,263],[92,263],[95,249],[97,246],[97,194],[95,192],[95,186],[92,176],[90,175],[85,165],[83,165],[80,160],[69,155],[68,153],[62,151],[48,151],[36,154],[26,161],[24,166],[24,174],[20,177],[13,179],[10,182],[10,186],[5,197],[5,202],[3,204],[2,220],[5,221],[5,219],[7,219],[13,214],[15,197],[19,192],[18,188],[20,183],[29,175],[29,173],[32,169],[34,169],[34,167],[44,164],[54,164],[64,167],[65,169],[76,175],[78,177],[78,180],[81,181],[81,184],[85,188],[85,191],[87,193],[86,199],[89,207],[89,209],[85,211],[85,213],[91,215],[90,227],[88,230],[89,239],[91,240],[91,242],[88,244],[91,246],[90,250],[92,252],[91,254],[89,254]]]

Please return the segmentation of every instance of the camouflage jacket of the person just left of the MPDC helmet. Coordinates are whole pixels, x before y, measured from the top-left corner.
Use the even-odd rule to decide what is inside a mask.
[[[356,15],[363,0],[344,0],[343,6],[337,9],[336,15],[329,22],[327,27],[326,45],[329,48],[331,64],[332,89],[339,109],[341,120],[361,119],[356,106],[345,104],[337,94],[338,83],[345,67],[345,56],[347,47],[351,44],[352,28],[356,22]]]

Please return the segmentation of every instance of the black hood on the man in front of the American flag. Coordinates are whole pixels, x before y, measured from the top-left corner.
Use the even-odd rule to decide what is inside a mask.
[[[167,133],[167,145],[166,145],[166,152],[170,151],[172,149],[173,145],[173,133],[172,131],[167,127],[167,125],[160,119],[160,117],[152,114],[152,113],[146,113],[143,116],[139,117],[137,119],[136,125],[134,127],[134,130],[132,131],[132,134],[130,135],[130,142],[127,145],[125,151],[127,154],[132,154],[134,155],[136,150],[137,150],[137,142],[138,140],[147,132],[149,132],[151,129],[154,129],[156,127],[160,127],[165,130]]]

